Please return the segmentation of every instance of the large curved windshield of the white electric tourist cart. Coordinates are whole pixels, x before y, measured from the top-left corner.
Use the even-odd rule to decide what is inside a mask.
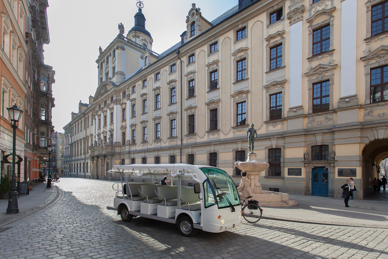
[[[204,183],[205,207],[217,203],[218,208],[232,208],[240,204],[236,186],[227,172],[212,167],[202,167],[200,169],[208,178]]]

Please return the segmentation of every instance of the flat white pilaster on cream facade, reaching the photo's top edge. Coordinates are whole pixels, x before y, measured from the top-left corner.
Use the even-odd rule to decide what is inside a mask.
[[[357,94],[357,0],[341,2],[341,97]]]

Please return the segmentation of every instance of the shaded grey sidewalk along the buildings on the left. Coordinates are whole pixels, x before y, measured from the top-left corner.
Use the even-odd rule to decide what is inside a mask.
[[[19,214],[31,210],[54,195],[54,187],[47,188],[46,183],[37,183],[29,192],[29,195],[18,197]],[[15,214],[7,214],[8,200],[0,199],[0,221],[15,217]]]

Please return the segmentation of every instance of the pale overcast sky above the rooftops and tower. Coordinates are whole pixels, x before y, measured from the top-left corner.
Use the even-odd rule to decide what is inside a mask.
[[[136,0],[49,0],[47,17],[50,44],[44,45],[44,63],[53,67],[53,125],[57,132],[70,122],[71,112],[78,112],[79,101],[88,103],[98,87],[99,46],[105,50],[119,34],[134,26]],[[186,16],[191,4],[212,21],[238,4],[238,0],[144,0],[142,10],[146,29],[154,42],[152,50],[162,53],[180,41],[186,30]]]

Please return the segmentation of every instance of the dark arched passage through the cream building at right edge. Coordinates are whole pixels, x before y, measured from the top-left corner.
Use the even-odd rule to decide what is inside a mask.
[[[379,164],[388,157],[388,140],[371,141],[362,151],[362,184],[363,197],[373,192],[371,181],[381,178]]]

